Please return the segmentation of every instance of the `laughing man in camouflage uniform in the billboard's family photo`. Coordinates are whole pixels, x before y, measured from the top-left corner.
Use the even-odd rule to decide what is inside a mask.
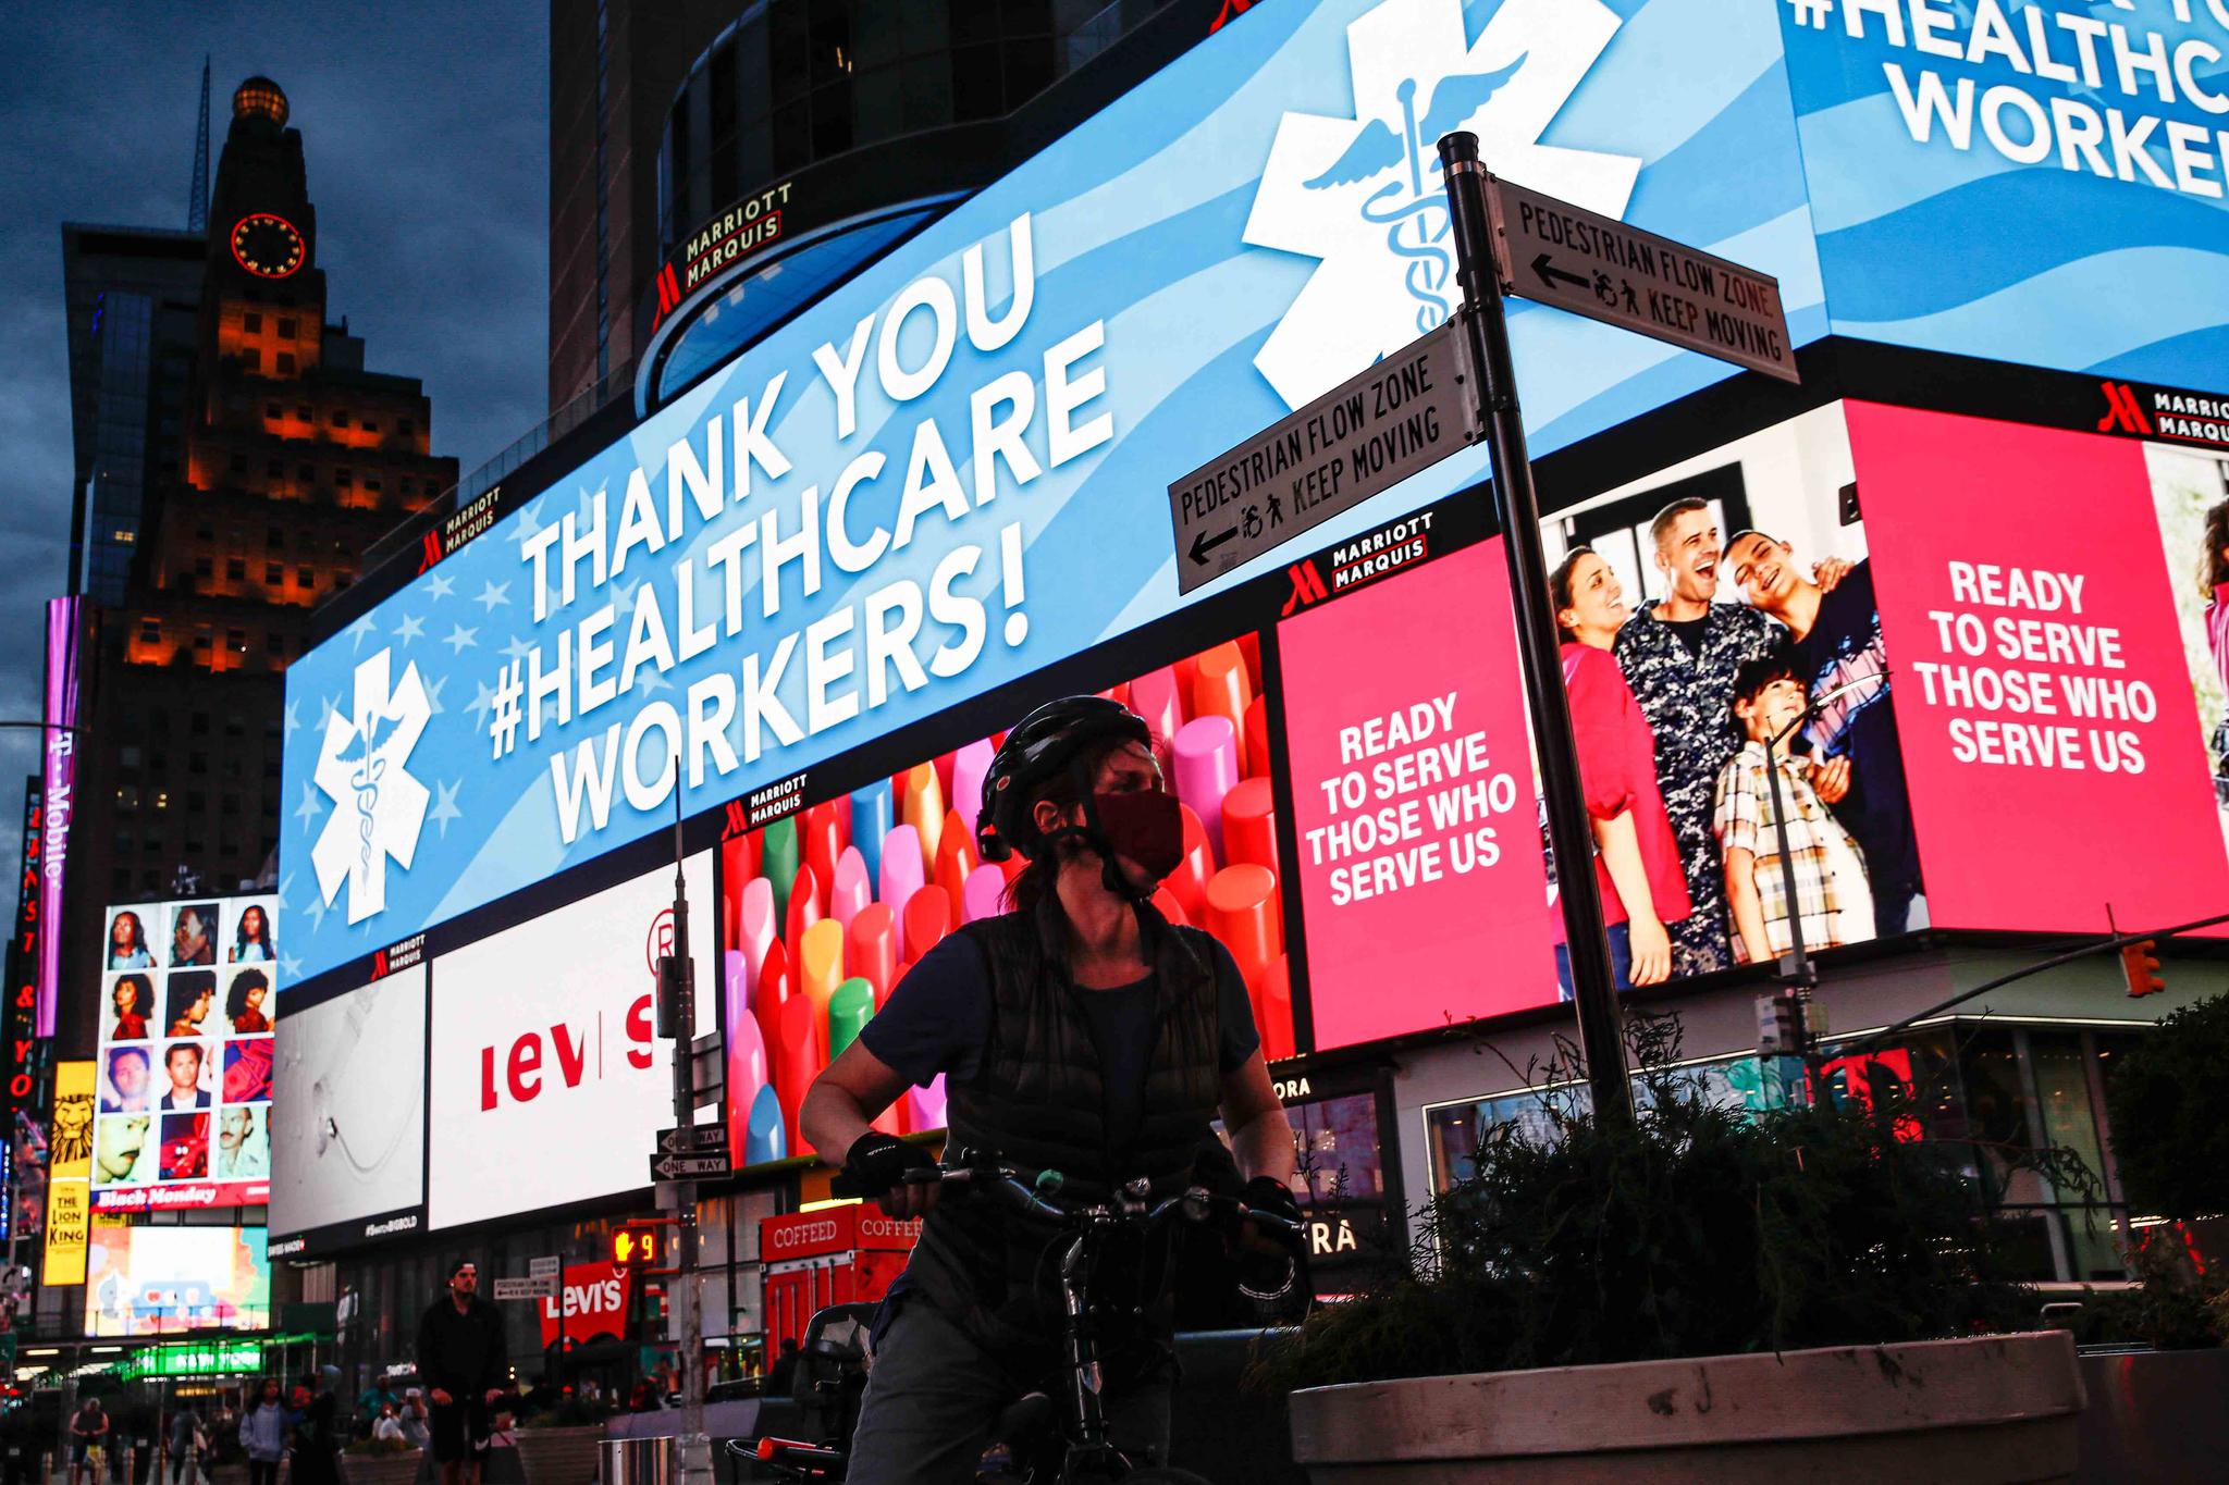
[[[1712,601],[1719,594],[1719,521],[1705,501],[1672,501],[1656,512],[1649,537],[1656,568],[1665,574],[1665,599],[1625,621],[1614,652],[1641,715],[1656,732],[1656,786],[1694,904],[1683,922],[1665,924],[1672,931],[1672,975],[1707,975],[1734,964],[1725,862],[1710,828],[1719,773],[1743,741],[1730,710],[1734,672],[1785,643],[1788,630],[1743,603]],[[1832,588],[1843,570],[1846,563],[1821,566],[1821,588]]]

